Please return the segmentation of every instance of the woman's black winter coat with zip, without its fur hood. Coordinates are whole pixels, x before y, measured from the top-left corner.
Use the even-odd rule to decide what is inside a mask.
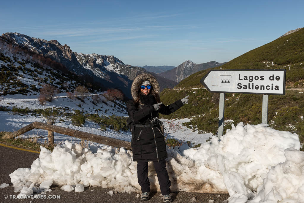
[[[152,105],[135,106],[132,100],[126,102],[129,116],[134,120],[134,125],[150,124],[150,120],[158,117],[158,113],[169,115],[183,106],[181,100],[154,111]],[[167,158],[166,143],[160,126],[135,127],[132,132],[131,146],[133,149],[133,161],[161,161]]]

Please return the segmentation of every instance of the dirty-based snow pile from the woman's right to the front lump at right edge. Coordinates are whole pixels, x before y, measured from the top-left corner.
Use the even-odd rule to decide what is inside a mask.
[[[232,130],[220,138],[213,136],[200,148],[168,150],[174,189],[212,193],[227,189],[230,202],[253,198],[252,191],[261,190],[268,170],[285,161],[284,150],[300,147],[297,135],[266,126],[232,124]]]

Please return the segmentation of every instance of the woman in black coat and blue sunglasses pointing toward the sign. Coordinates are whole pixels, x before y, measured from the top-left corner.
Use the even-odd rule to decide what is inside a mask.
[[[153,161],[161,186],[163,202],[171,202],[171,182],[165,162],[167,158],[166,143],[160,127],[162,122],[158,120],[158,113],[165,115],[173,113],[187,103],[189,96],[165,106],[160,101],[159,91],[159,84],[153,75],[139,74],[131,86],[133,100],[127,101],[126,106],[134,125],[131,146],[133,161],[137,161],[137,177],[142,191],[140,199],[149,199],[148,161]]]

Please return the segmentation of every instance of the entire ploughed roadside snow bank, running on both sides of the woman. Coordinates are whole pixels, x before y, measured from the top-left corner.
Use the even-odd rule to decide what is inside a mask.
[[[52,153],[40,148],[40,157],[30,169],[19,168],[10,174],[13,186],[21,193],[33,192],[33,184],[44,182],[48,186],[50,181],[73,188],[81,184],[129,193],[140,190],[130,150],[100,149],[93,144],[82,149],[68,141],[56,146]],[[199,148],[167,148],[171,191],[228,191],[230,203],[299,200],[304,189],[304,155],[299,148],[298,136],[290,132],[274,130],[266,124],[232,124],[225,135],[213,136]],[[159,191],[152,162],[148,175],[151,189]],[[68,186],[62,189],[73,190]]]

